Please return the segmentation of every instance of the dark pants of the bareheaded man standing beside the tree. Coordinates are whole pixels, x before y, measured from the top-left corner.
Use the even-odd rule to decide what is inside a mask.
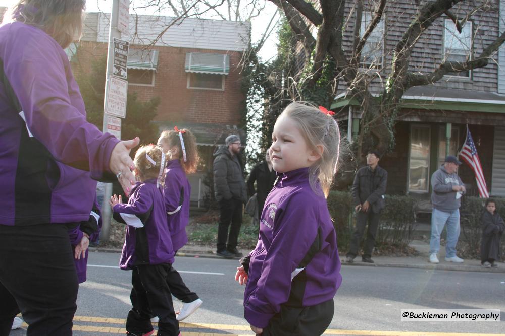
[[[367,212],[360,211],[356,218],[356,230],[352,234],[350,248],[347,256],[356,257],[360,249],[361,237],[365,232],[365,226],[368,222],[367,239],[362,257],[371,257],[375,246],[375,236],[379,227],[380,213],[373,213],[370,209]]]

